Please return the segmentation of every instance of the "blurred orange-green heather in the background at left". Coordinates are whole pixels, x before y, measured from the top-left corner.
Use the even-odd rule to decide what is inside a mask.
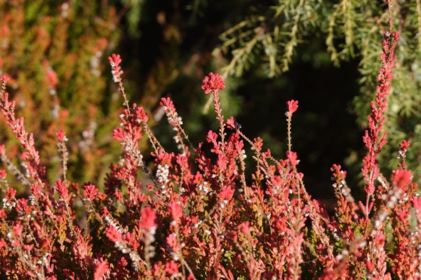
[[[110,102],[111,94],[98,92],[107,91],[103,62],[119,40],[119,18],[107,1],[0,2],[0,73],[11,78],[15,110],[31,120],[27,129],[35,135],[51,181],[60,177],[55,149],[59,129],[73,136],[67,142],[72,151],[67,177],[96,182],[105,175],[100,172],[109,162],[101,155],[112,149],[104,132],[116,125],[109,116],[119,106]],[[13,134],[4,124],[0,132],[9,158],[18,158]]]

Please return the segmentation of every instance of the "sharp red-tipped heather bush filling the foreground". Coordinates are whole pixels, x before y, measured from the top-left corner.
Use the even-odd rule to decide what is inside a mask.
[[[209,73],[202,89],[211,96],[219,129],[192,143],[175,104],[164,97],[160,104],[178,148],[170,151],[154,137],[145,109],[129,102],[121,58],[112,55],[124,107],[112,135],[122,152],[99,188],[67,177],[72,136],[65,130],[56,132],[62,177],[48,180],[34,135],[6,92],[9,79],[2,77],[1,113],[22,148],[25,173],[9,167],[31,195],[17,197],[0,171],[1,278],[419,279],[421,199],[406,165],[410,142],[402,139],[396,147],[401,162],[390,178],[377,162],[386,143],[383,126],[399,38],[391,13],[389,4],[379,84],[363,137],[366,200],[354,200],[347,173],[333,165],[334,215],[307,193],[299,172],[290,130],[298,101],[286,104],[288,151],[276,160],[263,139],[249,139],[234,118],[222,115],[225,81]],[[143,160],[142,137],[152,146],[153,169]],[[246,166],[246,149],[253,151],[255,165]],[[5,146],[0,155],[8,161]]]

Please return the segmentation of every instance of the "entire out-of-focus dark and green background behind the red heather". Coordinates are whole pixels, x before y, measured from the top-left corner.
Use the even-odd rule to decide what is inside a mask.
[[[408,165],[419,176],[420,1],[396,0],[393,13],[401,38],[380,165],[389,176],[406,139]],[[293,150],[309,192],[324,198],[333,193],[333,163],[345,165],[350,186],[360,183],[386,20],[380,0],[2,1],[0,69],[13,78],[8,91],[44,158],[57,158],[55,130],[67,131],[71,178],[80,183],[101,181],[121,151],[111,139],[121,107],[106,59],[112,52],[123,59],[130,101],[145,106],[166,146],[175,148],[161,97],[173,98],[194,142],[218,127],[201,90],[210,71],[226,80],[224,116],[265,139],[276,158],[286,151],[286,101],[297,99]],[[2,128],[1,137],[11,134]],[[58,160],[44,163],[60,170]]]

